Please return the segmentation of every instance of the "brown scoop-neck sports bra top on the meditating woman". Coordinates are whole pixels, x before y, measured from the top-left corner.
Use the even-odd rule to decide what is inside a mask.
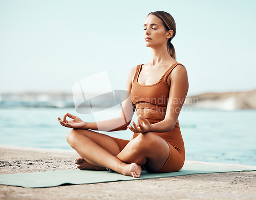
[[[141,115],[144,118],[164,119],[170,91],[167,79],[169,74],[178,64],[181,63],[172,64],[163,74],[161,79],[157,83],[151,85],[142,85],[138,82],[143,64],[137,65],[131,90],[131,99],[136,105],[137,115]],[[148,109],[144,110],[139,108]]]

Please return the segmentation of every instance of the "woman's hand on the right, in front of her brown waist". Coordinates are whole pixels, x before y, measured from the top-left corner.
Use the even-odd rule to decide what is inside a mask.
[[[141,133],[143,134],[143,132],[149,132],[151,131],[151,127],[152,125],[150,124],[150,122],[141,117],[141,115],[137,116],[138,119],[138,125],[135,124],[134,121],[132,121],[132,125],[127,126],[130,130],[132,130],[135,134]]]

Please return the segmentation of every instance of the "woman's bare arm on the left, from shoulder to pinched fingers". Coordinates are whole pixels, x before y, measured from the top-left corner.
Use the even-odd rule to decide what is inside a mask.
[[[132,89],[132,80],[135,74],[136,68],[130,70],[129,75],[126,80],[126,88],[125,90],[131,93]],[[81,129],[92,129],[92,130],[101,130],[101,131],[116,131],[116,130],[125,130],[127,129],[127,125],[130,124],[133,114],[134,114],[134,106],[129,96],[122,102],[122,110],[120,110],[120,114],[118,117],[97,121],[97,122],[83,122],[80,118],[73,116],[67,113],[63,120],[58,118],[59,123],[62,126],[70,127],[70,128],[81,128]],[[70,117],[72,120],[68,121],[66,117]]]

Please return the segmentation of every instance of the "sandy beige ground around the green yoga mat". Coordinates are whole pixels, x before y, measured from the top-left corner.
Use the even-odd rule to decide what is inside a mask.
[[[76,169],[73,160],[77,157],[69,150],[0,145],[0,174]],[[256,199],[256,171],[51,188],[0,185],[0,199]]]

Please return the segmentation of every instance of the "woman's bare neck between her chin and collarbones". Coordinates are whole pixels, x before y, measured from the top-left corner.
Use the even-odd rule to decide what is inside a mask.
[[[166,45],[162,47],[151,48],[150,63],[152,65],[156,65],[158,63],[163,63],[163,62],[169,62],[169,61],[175,61],[175,59],[169,55]]]

